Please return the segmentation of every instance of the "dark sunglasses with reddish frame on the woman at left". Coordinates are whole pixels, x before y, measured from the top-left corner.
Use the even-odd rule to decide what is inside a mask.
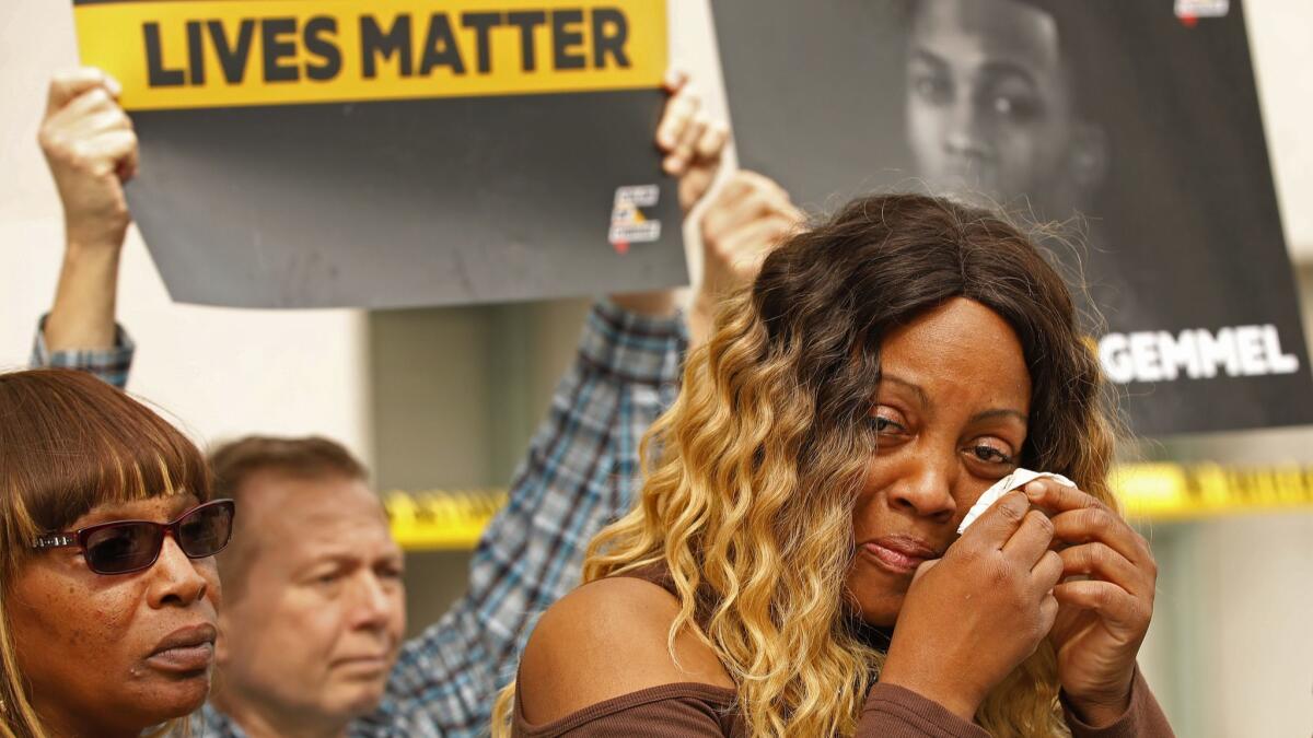
[[[130,574],[150,569],[160,555],[164,536],[172,534],[188,558],[214,555],[232,537],[232,500],[198,504],[172,523],[116,520],[71,533],[46,533],[34,549],[77,546],[96,574]]]

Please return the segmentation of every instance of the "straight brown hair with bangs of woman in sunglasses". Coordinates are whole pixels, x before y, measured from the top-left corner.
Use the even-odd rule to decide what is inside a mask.
[[[0,735],[46,734],[4,608],[32,541],[101,504],[181,494],[209,502],[205,457],[142,403],[84,372],[0,374]]]

